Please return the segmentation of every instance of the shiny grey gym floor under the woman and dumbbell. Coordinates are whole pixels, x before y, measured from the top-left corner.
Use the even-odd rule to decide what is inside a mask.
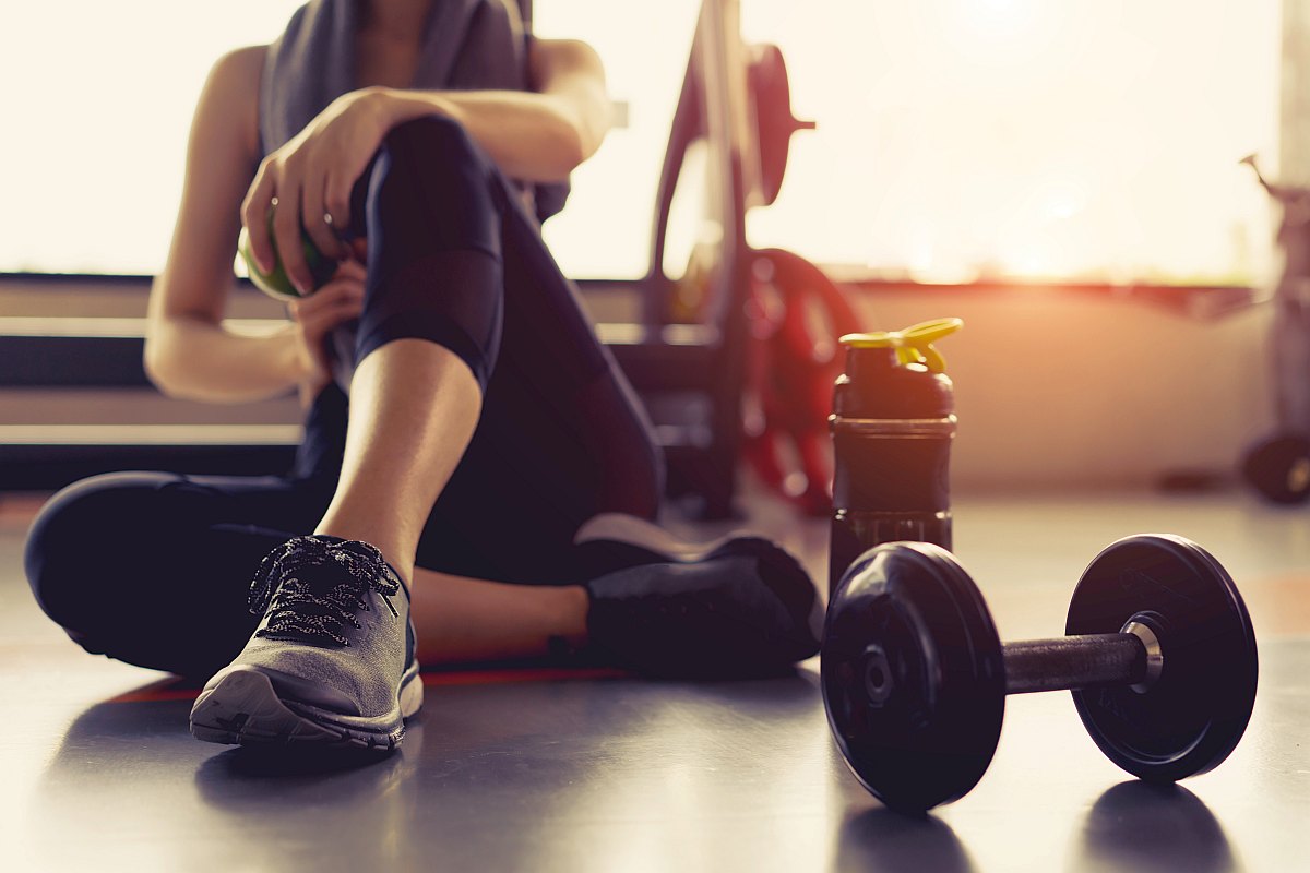
[[[84,654],[38,611],[21,546],[39,497],[0,496],[0,857],[9,870],[1290,870],[1310,857],[1310,525],[1227,493],[955,503],[956,552],[1002,639],[1057,636],[1108,542],[1196,539],[1260,649],[1246,737],[1176,788],[1141,784],[1065,692],[1011,698],[972,793],[887,811],[828,732],[817,660],[684,685],[434,673],[401,753],[331,772],[194,741],[194,691]],[[823,576],[827,525],[764,497],[749,525]],[[715,534],[722,525],[680,525]],[[181,580],[185,584],[185,580]],[[110,580],[106,580],[110,584]],[[162,682],[161,682],[162,681]]]

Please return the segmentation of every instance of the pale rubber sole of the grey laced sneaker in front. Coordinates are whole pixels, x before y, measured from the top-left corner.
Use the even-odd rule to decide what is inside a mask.
[[[343,716],[283,700],[267,675],[236,669],[206,688],[191,708],[191,736],[241,746],[352,747],[390,751],[405,737],[405,720],[423,705],[423,681],[414,664],[401,681],[396,709],[376,719]]]

